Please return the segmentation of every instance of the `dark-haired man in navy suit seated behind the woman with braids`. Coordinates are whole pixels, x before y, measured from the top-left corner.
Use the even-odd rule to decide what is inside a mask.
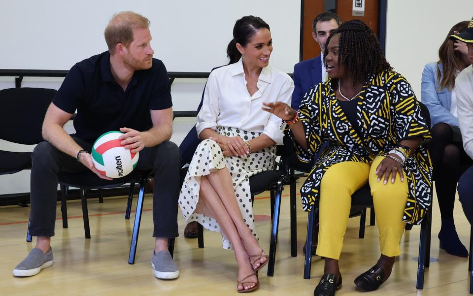
[[[341,25],[340,17],[332,11],[322,12],[312,22],[312,37],[320,46],[322,53],[294,66],[294,92],[292,107],[299,109],[305,93],[314,85],[326,80],[326,70],[323,64],[325,42],[330,34]]]

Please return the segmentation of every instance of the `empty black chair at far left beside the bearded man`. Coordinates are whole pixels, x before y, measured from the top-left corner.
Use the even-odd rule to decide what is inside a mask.
[[[10,88],[0,90],[0,139],[25,145],[43,141],[41,127],[56,90]],[[0,175],[31,168],[31,152],[0,150]]]

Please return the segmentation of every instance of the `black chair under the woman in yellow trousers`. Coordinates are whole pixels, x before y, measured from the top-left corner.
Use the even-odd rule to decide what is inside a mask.
[[[430,113],[427,107],[419,102],[422,115],[426,119],[427,125],[430,127]],[[365,209],[365,214],[362,215],[362,222],[360,222],[360,238],[364,237],[364,228],[365,228],[365,218],[366,217],[366,208],[373,208],[373,198],[371,196],[371,189],[369,185],[366,185],[356,191],[352,196],[352,208],[351,212],[353,212],[354,208],[355,211],[358,209]],[[307,219],[307,250],[310,250],[312,247],[312,235],[313,229],[315,227],[315,222],[318,220],[318,203],[314,204],[310,208],[310,212]],[[374,217],[374,216],[373,216]],[[363,224],[363,226],[362,226]],[[374,224],[374,223],[373,223]],[[406,227],[406,229],[410,229],[411,227]],[[363,237],[362,237],[362,230],[363,229]],[[430,266],[430,239],[431,239],[431,231],[432,231],[432,204],[427,210],[427,214],[422,220],[421,227],[420,227],[420,242],[419,242],[419,259],[417,264],[417,289],[424,288],[424,273],[425,268]],[[317,230],[315,231],[315,235],[317,235]],[[305,253],[305,263],[304,263],[304,279],[310,279],[310,265],[311,265],[312,256],[310,252]]]

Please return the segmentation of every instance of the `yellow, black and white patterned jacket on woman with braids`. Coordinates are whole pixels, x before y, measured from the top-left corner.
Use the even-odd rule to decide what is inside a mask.
[[[383,71],[365,82],[357,105],[361,134],[343,113],[331,85],[329,79],[310,89],[298,111],[308,147],[304,151],[296,143],[303,162],[310,161],[329,141],[301,188],[305,211],[320,196],[320,181],[331,165],[346,161],[369,163],[378,155],[386,155],[403,139],[422,136],[426,143],[432,138],[414,92],[401,74]],[[422,144],[405,161],[403,170],[409,197],[402,220],[419,224],[432,200],[432,164]]]

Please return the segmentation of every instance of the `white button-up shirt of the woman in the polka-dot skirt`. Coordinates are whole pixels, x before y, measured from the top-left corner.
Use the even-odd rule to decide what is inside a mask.
[[[197,115],[197,134],[204,129],[237,128],[247,132],[262,132],[276,144],[284,136],[281,119],[261,109],[263,102],[281,101],[291,105],[294,82],[286,73],[271,66],[261,70],[258,91],[250,97],[246,88],[243,63],[223,66],[208,76],[203,104]]]

